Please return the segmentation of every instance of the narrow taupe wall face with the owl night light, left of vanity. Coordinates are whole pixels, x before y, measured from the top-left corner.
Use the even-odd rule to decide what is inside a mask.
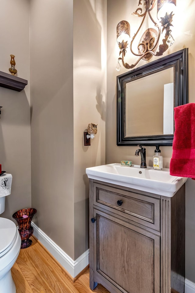
[[[74,251],[89,248],[89,180],[86,167],[105,164],[106,1],[73,1]],[[83,131],[98,124],[90,146]]]

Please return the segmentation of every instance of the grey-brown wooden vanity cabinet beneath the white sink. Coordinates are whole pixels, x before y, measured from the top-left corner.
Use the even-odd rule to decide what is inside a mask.
[[[90,288],[183,293],[185,185],[173,197],[90,179]]]

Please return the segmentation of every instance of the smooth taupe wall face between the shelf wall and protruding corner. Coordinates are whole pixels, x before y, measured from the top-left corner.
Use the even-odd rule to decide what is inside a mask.
[[[30,1],[35,224],[74,259],[73,1]]]

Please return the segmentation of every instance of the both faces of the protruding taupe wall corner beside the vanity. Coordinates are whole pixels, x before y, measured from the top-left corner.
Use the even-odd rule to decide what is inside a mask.
[[[89,247],[85,168],[105,163],[105,117],[102,104],[97,107],[97,87],[103,101],[106,91],[105,2],[104,16],[102,7],[100,0],[30,1],[34,222],[72,259]],[[85,147],[83,131],[91,122],[98,123],[98,134]]]

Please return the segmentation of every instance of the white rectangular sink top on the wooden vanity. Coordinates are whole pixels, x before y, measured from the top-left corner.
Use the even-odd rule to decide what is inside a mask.
[[[174,196],[187,180],[185,177],[170,175],[167,168],[154,170],[152,167],[147,167],[144,169],[139,165],[126,167],[121,166],[120,163],[86,168],[86,174],[91,179],[168,197]]]

